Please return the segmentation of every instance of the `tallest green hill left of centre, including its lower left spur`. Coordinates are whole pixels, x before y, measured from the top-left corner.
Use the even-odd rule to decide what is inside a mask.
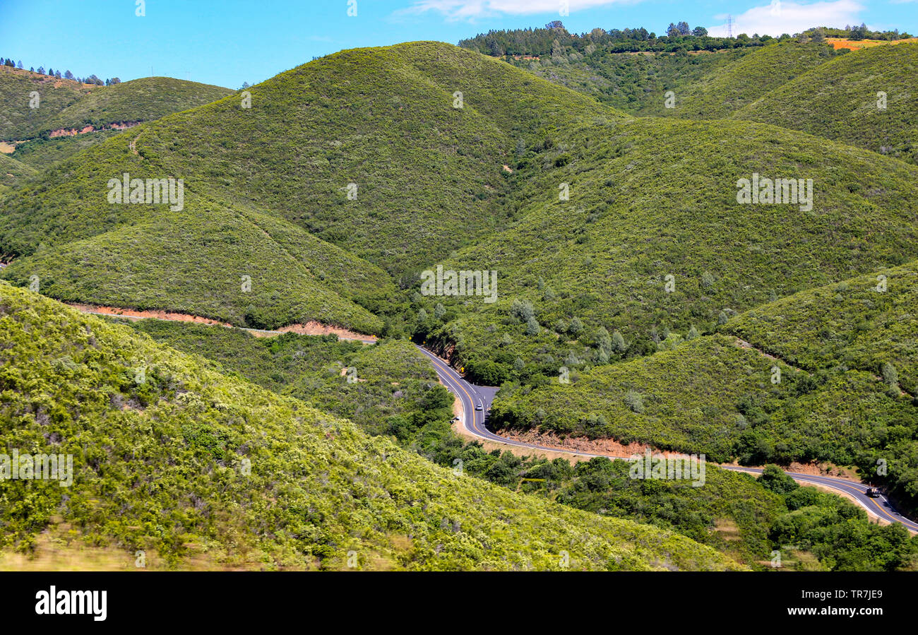
[[[253,87],[241,106],[237,95],[162,117],[50,167],[6,204],[0,252],[17,262],[4,276],[39,275],[68,300],[375,332],[377,317],[316,289],[379,306],[394,286],[361,258],[393,273],[432,266],[506,222],[501,165],[518,139],[622,117],[430,42],[342,51]],[[123,173],[184,179],[184,211],[109,204],[106,184]]]

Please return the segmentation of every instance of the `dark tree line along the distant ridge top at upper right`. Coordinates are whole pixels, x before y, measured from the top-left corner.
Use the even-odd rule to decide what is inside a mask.
[[[800,33],[800,39],[823,41],[825,38],[847,39],[906,39],[908,33],[892,31],[871,31],[865,25],[843,28],[811,28]],[[734,38],[712,38],[704,27],[689,27],[685,21],[670,23],[665,36],[657,36],[646,28],[594,28],[589,33],[570,33],[560,20],[554,20],[544,28],[518,28],[513,30],[491,30],[474,38],[462,39],[459,46],[476,50],[492,57],[505,55],[542,57],[565,54],[568,49],[579,53],[590,53],[604,49],[606,52],[625,53],[638,51],[677,52],[680,50],[722,50],[756,47],[775,39],[791,39],[789,34],[779,38],[771,36],[748,36],[745,33]],[[592,47],[592,48],[590,48]],[[588,50],[589,49],[589,50]]]

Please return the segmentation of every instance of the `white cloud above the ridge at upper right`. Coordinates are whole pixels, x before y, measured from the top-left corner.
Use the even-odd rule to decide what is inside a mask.
[[[845,25],[863,22],[859,17],[863,10],[864,6],[856,0],[830,0],[808,5],[772,0],[768,5],[756,6],[742,15],[734,16],[733,35],[745,33],[751,36],[758,33],[777,37],[783,33],[800,33],[812,27],[844,28]],[[726,36],[726,20],[720,25],[709,27],[708,32],[714,37]]]

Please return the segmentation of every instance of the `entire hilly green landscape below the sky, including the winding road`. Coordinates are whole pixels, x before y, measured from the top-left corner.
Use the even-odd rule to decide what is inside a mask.
[[[0,569],[918,569],[918,43],[598,31],[0,69]]]

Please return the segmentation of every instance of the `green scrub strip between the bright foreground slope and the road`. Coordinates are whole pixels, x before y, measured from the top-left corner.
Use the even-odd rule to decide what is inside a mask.
[[[809,545],[793,559],[784,554],[782,566],[791,569],[907,567],[909,554],[918,550],[918,539],[900,535],[904,529],[871,525],[862,510],[838,496],[791,488],[792,483],[776,494],[749,474],[710,464],[704,485],[695,487],[689,480],[630,478],[631,466],[623,461],[593,459],[572,465],[563,458],[487,452],[458,439],[444,425],[453,415],[453,397],[435,382],[427,358],[408,342],[364,346],[291,333],[256,339],[237,329],[160,320],[131,326],[176,349],[216,360],[227,372],[231,369],[274,392],[346,416],[366,431],[393,435],[403,447],[444,467],[461,461],[466,474],[530,496],[676,530],[756,568],[770,568],[767,554],[787,544],[798,545],[797,551]],[[353,371],[356,382],[345,379],[344,367]],[[803,507],[807,509],[798,511]],[[800,525],[788,522],[788,514],[817,519]],[[789,532],[796,540],[785,540]],[[776,533],[780,537],[772,542]],[[870,545],[866,550],[865,544]]]

